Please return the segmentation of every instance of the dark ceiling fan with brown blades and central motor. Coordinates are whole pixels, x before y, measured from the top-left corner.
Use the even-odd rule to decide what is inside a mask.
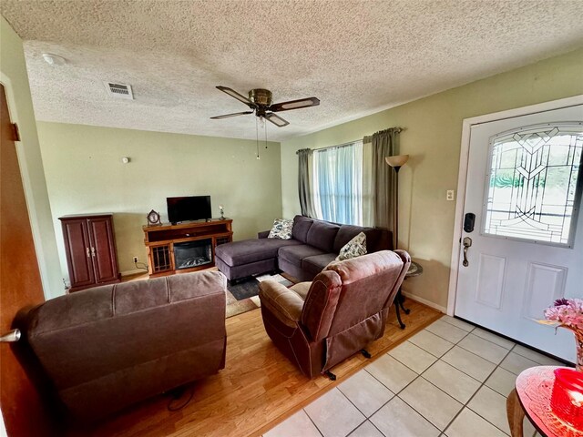
[[[276,112],[300,109],[301,107],[317,107],[320,105],[320,100],[316,97],[300,98],[298,100],[290,100],[288,102],[274,103],[271,105],[271,91],[269,89],[251,89],[249,97],[245,97],[227,86],[217,86],[217,88],[223,93],[228,94],[230,97],[235,97],[240,102],[251,107],[252,110],[235,112],[234,114],[225,114],[224,116],[210,117],[213,120],[255,113],[257,117],[263,117],[264,119],[271,121],[271,123],[277,127],[284,127],[290,123],[275,114]]]

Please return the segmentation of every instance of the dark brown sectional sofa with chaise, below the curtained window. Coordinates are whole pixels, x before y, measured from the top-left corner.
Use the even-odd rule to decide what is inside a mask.
[[[215,249],[215,263],[230,280],[277,269],[296,279],[312,280],[360,232],[366,235],[368,253],[393,249],[391,232],[386,229],[295,216],[292,239],[268,239],[269,231],[265,231],[258,239],[221,244]]]

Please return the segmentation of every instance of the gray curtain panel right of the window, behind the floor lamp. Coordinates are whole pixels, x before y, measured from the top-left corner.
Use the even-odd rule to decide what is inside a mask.
[[[373,144],[373,189],[376,193],[373,201],[373,224],[391,231],[394,231],[395,222],[396,174],[384,158],[398,153],[399,131],[397,128],[385,129],[363,139],[363,142]],[[393,247],[394,243],[395,241]]]

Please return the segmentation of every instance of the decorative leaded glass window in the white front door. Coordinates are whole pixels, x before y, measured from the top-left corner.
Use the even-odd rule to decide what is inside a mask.
[[[522,127],[492,137],[484,235],[571,247],[582,149],[580,123]]]

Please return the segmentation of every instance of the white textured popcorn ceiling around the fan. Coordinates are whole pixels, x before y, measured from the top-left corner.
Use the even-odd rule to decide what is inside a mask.
[[[271,140],[583,45],[580,0],[2,0],[0,13],[26,40],[38,120],[255,138],[254,116],[209,119],[247,109],[215,86],[320,98],[268,123]]]

